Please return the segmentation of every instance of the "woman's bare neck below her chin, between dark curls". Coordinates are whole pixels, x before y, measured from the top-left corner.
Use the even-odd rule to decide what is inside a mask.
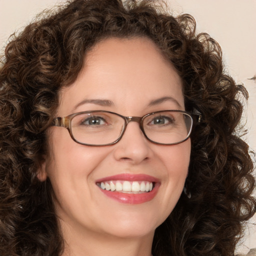
[[[64,229],[66,231],[64,231]],[[139,237],[118,237],[111,234],[83,232],[62,228],[65,240],[61,256],[151,256],[153,232]],[[68,230],[69,229],[69,230]]]

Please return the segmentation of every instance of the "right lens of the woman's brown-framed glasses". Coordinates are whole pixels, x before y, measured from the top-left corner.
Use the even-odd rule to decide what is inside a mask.
[[[175,144],[186,139],[192,127],[189,114],[177,111],[161,111],[143,119],[146,136],[157,143]]]

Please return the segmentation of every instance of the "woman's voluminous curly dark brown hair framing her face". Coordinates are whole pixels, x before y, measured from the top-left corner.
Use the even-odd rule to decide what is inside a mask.
[[[202,121],[191,136],[186,187],[155,230],[154,256],[233,255],[256,208],[248,145],[240,138],[243,85],[224,71],[221,48],[195,33],[188,14],[153,1],[73,0],[44,12],[5,48],[0,68],[0,255],[60,255],[63,241],[48,179],[36,177],[58,91],[72,83],[86,52],[107,37],[152,40],[183,81],[185,108]]]

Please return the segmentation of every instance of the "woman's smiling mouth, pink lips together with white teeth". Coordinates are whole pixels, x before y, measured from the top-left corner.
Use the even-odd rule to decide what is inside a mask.
[[[160,185],[155,177],[145,174],[119,174],[96,181],[108,197],[122,203],[138,204],[150,201]]]

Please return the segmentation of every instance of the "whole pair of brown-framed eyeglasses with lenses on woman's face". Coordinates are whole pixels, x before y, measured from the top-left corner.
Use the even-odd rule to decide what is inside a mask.
[[[67,128],[71,138],[79,144],[104,146],[117,143],[127,124],[135,121],[149,141],[174,145],[188,139],[193,122],[199,122],[200,118],[200,114],[182,110],[156,111],[142,117],[95,110],[56,117],[52,125]]]

